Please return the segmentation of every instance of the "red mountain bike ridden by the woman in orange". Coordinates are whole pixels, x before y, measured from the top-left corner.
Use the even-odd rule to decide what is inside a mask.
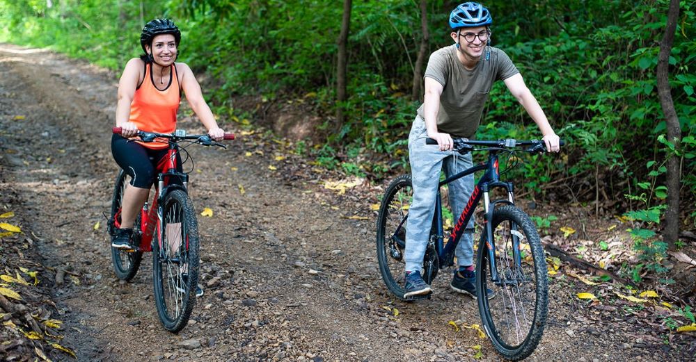
[[[121,128],[114,127],[120,134]],[[198,220],[188,195],[189,174],[177,171],[176,159],[180,142],[204,146],[218,146],[208,135],[187,135],[186,131],[150,133],[139,131],[143,142],[166,142],[168,153],[157,165],[155,193],[136,217],[133,224],[133,250],[111,248],[113,270],[119,279],[129,281],[140,267],[143,252],[152,252],[152,281],[155,286],[157,314],[164,328],[177,332],[186,327],[196,302],[198,286]],[[226,133],[226,140],[235,135]],[[188,152],[187,160],[190,158]],[[111,199],[111,217],[107,230],[111,240],[120,227],[121,204],[126,184],[130,182],[123,170],[116,177]]]

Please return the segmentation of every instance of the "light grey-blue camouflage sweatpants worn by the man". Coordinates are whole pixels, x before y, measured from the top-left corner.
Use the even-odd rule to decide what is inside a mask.
[[[472,167],[471,154],[457,154],[455,151],[440,151],[437,145],[426,145],[425,121],[416,116],[409,134],[409,161],[413,179],[413,202],[409,208],[406,223],[406,271],[420,271],[428,243],[430,227],[435,213],[440,171],[450,176]],[[457,155],[456,157],[454,155]],[[456,158],[456,162],[455,162]],[[470,174],[448,184],[449,200],[457,222],[474,188],[474,176]],[[473,217],[467,228],[473,228]],[[458,265],[473,264],[473,235],[464,233],[454,250]]]

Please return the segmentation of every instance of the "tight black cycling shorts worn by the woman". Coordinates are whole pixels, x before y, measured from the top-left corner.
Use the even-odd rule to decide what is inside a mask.
[[[149,149],[138,142],[129,141],[114,133],[111,136],[111,155],[116,163],[131,176],[130,184],[136,188],[151,188],[157,176],[157,163],[167,155],[168,149]],[[176,155],[177,171],[182,171],[181,157]]]

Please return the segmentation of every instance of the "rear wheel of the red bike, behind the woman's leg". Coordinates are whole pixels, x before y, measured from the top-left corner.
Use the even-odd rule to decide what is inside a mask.
[[[126,185],[130,182],[131,177],[123,170],[118,172],[116,176],[116,186],[113,188],[113,197],[111,198],[111,218],[109,219],[109,235],[111,241],[116,238],[116,224],[120,224],[120,213],[123,201],[123,193]],[[133,223],[133,230],[137,231],[141,226],[141,217],[138,214]],[[139,233],[134,232],[134,245],[140,245]],[[109,242],[111,244],[111,242]],[[140,262],[143,258],[143,252],[125,252],[122,249],[111,248],[111,262],[113,263],[113,272],[118,279],[129,281],[135,277],[140,268]]]

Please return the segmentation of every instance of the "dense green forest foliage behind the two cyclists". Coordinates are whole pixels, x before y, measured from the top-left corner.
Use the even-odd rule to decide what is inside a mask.
[[[451,43],[447,16],[456,2],[428,3],[433,51]],[[239,97],[302,99],[326,119],[319,128],[328,130],[336,106],[341,5],[315,0],[0,0],[0,40],[50,46],[120,69],[139,54],[143,22],[172,17],[183,31],[180,59],[213,80],[205,92],[216,113],[253,111],[233,108]],[[571,142],[562,161],[542,157],[524,164],[519,171],[534,175],[525,187],[545,192],[547,181],[573,176],[573,191],[562,192],[578,201],[597,197],[624,209],[663,204],[661,170],[670,144],[658,140],[665,122],[655,69],[668,1],[487,5],[494,19],[493,44],[511,56],[557,133]],[[695,11],[693,1],[681,2],[670,58],[672,97],[684,136],[677,151],[683,160],[687,229],[696,219]],[[354,2],[344,105],[348,118],[327,135],[325,145],[311,148],[321,163],[377,176],[407,165],[406,136],[418,106],[410,99],[411,81],[421,36],[417,1]],[[539,137],[502,83],[494,87],[485,117],[479,138]]]

